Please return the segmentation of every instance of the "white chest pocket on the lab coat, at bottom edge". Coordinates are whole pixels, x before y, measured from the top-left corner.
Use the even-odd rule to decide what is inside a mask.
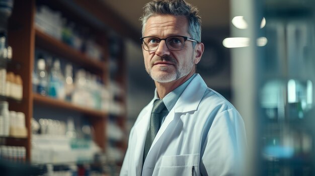
[[[199,175],[199,154],[162,156],[159,175]]]

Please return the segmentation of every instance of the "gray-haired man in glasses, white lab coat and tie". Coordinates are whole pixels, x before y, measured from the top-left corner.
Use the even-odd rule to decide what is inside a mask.
[[[145,69],[156,89],[131,129],[120,175],[240,173],[242,117],[195,73],[204,50],[198,10],[157,0],[141,20]]]

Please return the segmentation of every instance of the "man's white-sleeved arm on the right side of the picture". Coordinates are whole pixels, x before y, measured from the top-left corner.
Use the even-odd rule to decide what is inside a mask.
[[[240,114],[234,109],[217,114],[201,150],[201,174],[240,175],[246,146],[245,126]]]

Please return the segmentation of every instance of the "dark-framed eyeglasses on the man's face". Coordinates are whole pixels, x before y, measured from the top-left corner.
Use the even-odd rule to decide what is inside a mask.
[[[170,36],[165,39],[158,37],[142,37],[140,40],[142,41],[142,47],[145,51],[155,51],[162,40],[165,40],[166,46],[171,51],[182,50],[186,40],[199,43],[197,40],[185,36]]]

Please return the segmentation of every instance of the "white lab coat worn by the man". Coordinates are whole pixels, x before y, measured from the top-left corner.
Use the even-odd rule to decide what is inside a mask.
[[[143,148],[153,100],[129,135],[120,175],[236,175],[246,146],[235,108],[197,74],[169,112],[146,156]],[[194,172],[194,174],[192,174]]]

